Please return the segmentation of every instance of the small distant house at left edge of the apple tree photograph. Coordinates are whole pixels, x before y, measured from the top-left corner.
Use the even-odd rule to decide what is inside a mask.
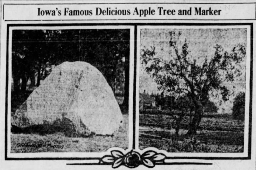
[[[151,109],[156,107],[156,99],[151,97],[146,90],[139,94],[139,109]]]

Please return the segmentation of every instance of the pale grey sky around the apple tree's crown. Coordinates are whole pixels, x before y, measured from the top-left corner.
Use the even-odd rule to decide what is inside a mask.
[[[216,44],[223,47],[224,51],[230,53],[237,44],[244,44],[246,47],[246,29],[175,29],[176,32],[181,32],[177,42],[178,50],[182,51],[182,45],[185,40],[188,44],[189,60],[196,60],[201,65],[204,59],[211,59],[214,56]],[[173,56],[174,50],[170,47],[170,31],[174,29],[141,29],[141,50],[151,49],[156,47],[155,52],[157,57],[162,57],[168,60]],[[217,105],[222,105],[220,108],[230,108],[236,93],[245,91],[245,58],[237,65],[237,69],[242,71],[242,74],[235,78],[234,82],[228,84],[231,96],[228,102],[223,103],[220,98],[215,96],[211,100]],[[140,66],[140,92],[159,93],[157,83],[146,73],[143,65]],[[226,111],[224,111],[226,112]]]

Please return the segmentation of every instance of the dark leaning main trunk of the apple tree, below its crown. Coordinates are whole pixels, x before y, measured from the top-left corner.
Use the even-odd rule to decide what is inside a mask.
[[[197,128],[201,122],[202,115],[204,113],[203,106],[201,103],[199,103],[199,101],[194,101],[194,104],[195,104],[195,114],[189,126],[189,130],[187,131],[188,135],[196,134]]]

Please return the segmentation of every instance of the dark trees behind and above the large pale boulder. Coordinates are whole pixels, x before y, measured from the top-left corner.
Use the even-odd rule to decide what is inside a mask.
[[[128,29],[14,30],[12,36],[13,92],[24,92],[28,80],[39,86],[53,65],[85,61],[96,67],[128,105]]]

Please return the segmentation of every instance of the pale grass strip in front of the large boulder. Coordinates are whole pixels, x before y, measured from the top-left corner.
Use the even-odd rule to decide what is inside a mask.
[[[110,147],[128,148],[128,114],[114,136],[66,137],[55,134],[11,134],[11,152],[104,152]]]

